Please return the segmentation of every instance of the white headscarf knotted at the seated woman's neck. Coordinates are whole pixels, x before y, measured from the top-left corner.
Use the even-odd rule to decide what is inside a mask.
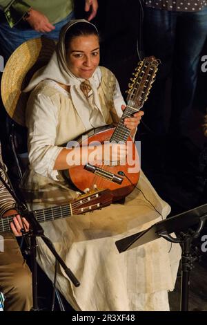
[[[53,53],[50,61],[48,62],[48,65],[34,73],[32,80],[30,80],[30,83],[28,84],[26,89],[24,89],[24,92],[32,91],[32,89],[34,89],[34,87],[37,86],[37,84],[39,84],[39,82],[43,80],[54,80],[55,82],[70,86],[70,95],[75,109],[77,110],[77,113],[79,114],[79,117],[81,118],[86,129],[90,129],[91,126],[96,127],[97,124],[99,126],[106,124],[106,121],[103,117],[103,113],[101,111],[101,104],[97,91],[101,82],[101,70],[99,67],[97,67],[92,77],[88,79],[92,88],[92,102],[94,103],[94,106],[91,106],[91,102],[88,102],[86,96],[83,94],[83,91],[81,91],[80,89],[81,82],[83,82],[84,79],[76,77],[69,70],[66,61],[66,32],[68,32],[68,29],[71,26],[78,23],[90,24],[94,26],[95,30],[97,30],[95,25],[91,24],[85,19],[72,20],[70,21],[70,23],[63,26],[60,32],[57,48]],[[87,108],[89,112],[89,119],[86,118]]]

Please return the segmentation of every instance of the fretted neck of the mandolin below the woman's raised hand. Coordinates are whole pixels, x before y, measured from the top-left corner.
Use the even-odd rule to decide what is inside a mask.
[[[128,139],[128,136],[130,134],[130,130],[127,129],[126,125],[124,124],[125,118],[132,118],[132,116],[137,113],[139,109],[133,109],[131,106],[126,106],[126,109],[124,110],[121,119],[119,121],[119,124],[117,125],[114,133],[112,134],[112,137],[110,138],[110,142],[126,142]]]

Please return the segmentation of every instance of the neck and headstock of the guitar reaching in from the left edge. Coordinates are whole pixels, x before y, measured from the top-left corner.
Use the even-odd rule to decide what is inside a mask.
[[[32,213],[39,223],[63,219],[75,214],[84,214],[92,212],[112,203],[112,194],[109,189],[99,189],[88,192],[76,198],[71,203],[59,205],[56,207],[47,207],[46,209],[34,210]],[[13,216],[3,216],[0,219],[0,232],[10,231],[10,223]],[[28,217],[28,222],[30,219]]]

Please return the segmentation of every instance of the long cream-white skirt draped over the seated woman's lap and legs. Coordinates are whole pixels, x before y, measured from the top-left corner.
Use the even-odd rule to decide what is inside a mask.
[[[142,171],[137,187],[161,215],[134,189],[124,205],[42,224],[81,283],[76,288],[58,268],[57,288],[75,310],[169,310],[168,291],[174,289],[181,257],[179,244],[157,239],[121,254],[115,245],[170,212]],[[38,263],[53,281],[55,258],[41,239],[38,245]]]

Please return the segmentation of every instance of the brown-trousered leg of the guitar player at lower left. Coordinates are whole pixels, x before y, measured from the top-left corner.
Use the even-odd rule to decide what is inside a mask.
[[[29,311],[32,308],[32,277],[12,234],[3,233],[0,252],[0,291],[5,295],[4,310]]]

